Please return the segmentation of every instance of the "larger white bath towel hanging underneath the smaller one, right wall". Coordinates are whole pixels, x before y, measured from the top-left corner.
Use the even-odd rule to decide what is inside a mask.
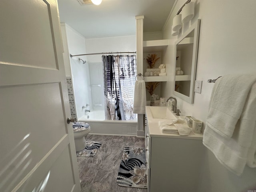
[[[217,127],[221,128],[218,130],[207,119],[203,144],[214,153],[219,162],[228,170],[240,175],[246,163],[250,167],[256,167],[256,83],[251,86],[243,108],[237,110],[241,110],[242,113],[235,124],[232,137],[222,133],[225,132],[224,129],[230,128],[230,126]],[[217,124],[217,126],[220,125]]]

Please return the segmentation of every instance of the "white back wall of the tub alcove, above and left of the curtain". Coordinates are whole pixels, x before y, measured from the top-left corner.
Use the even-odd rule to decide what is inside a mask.
[[[136,36],[86,39],[87,53],[134,51],[136,51]],[[104,83],[101,56],[101,54],[87,56],[91,90],[90,104],[93,110],[104,110]]]

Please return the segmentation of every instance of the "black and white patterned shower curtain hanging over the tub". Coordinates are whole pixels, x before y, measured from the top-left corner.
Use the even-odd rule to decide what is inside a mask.
[[[102,56],[104,71],[105,116],[108,120],[132,120],[135,55]]]

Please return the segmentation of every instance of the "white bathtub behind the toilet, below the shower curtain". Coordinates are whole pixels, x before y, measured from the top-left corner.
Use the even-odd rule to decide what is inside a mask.
[[[104,135],[137,135],[138,122],[135,120],[106,120],[105,111],[86,112],[78,119],[79,122],[90,124],[91,134]]]

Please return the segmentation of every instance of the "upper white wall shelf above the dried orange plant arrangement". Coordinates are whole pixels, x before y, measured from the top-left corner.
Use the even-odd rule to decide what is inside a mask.
[[[143,52],[162,52],[168,45],[168,39],[143,41]]]

